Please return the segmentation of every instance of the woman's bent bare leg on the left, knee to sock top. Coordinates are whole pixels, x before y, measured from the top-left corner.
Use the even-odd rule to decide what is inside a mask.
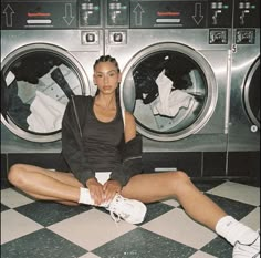
[[[52,172],[38,166],[17,164],[8,174],[9,182],[42,200],[54,200],[63,204],[77,204],[80,187],[83,185],[70,173]]]

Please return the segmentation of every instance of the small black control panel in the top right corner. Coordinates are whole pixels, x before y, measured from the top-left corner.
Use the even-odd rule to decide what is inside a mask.
[[[234,1],[234,28],[260,28],[260,0]]]

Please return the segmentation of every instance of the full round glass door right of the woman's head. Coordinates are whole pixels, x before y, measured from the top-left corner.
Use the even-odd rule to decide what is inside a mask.
[[[195,134],[217,104],[213,72],[202,55],[176,43],[161,43],[136,54],[123,72],[122,97],[137,131],[156,141]]]

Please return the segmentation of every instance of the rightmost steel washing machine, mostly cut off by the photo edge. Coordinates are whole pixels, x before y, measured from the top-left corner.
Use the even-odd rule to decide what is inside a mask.
[[[234,1],[228,174],[260,173],[260,1]],[[259,164],[252,167],[252,164]]]

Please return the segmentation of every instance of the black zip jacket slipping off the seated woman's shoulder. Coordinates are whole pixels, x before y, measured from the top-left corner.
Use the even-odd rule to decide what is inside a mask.
[[[75,177],[86,186],[86,180],[95,177],[82,145],[83,125],[87,117],[92,96],[73,96],[67,103],[62,122],[62,154]],[[129,178],[142,173],[142,137],[137,135],[118,146],[122,154],[121,166],[112,171],[111,179],[118,180],[122,186]]]

